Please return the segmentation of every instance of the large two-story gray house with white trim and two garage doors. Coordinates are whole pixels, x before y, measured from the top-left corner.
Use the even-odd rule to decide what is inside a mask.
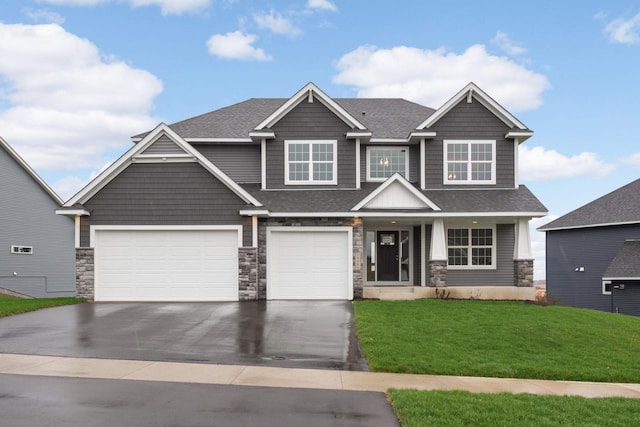
[[[532,134],[473,83],[438,110],[309,83],[160,124],[58,211],[78,294],[533,299]]]

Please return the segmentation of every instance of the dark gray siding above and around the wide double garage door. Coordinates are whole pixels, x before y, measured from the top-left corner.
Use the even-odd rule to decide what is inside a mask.
[[[81,246],[89,246],[90,225],[244,225],[251,246],[245,203],[197,163],[132,164],[85,204]]]

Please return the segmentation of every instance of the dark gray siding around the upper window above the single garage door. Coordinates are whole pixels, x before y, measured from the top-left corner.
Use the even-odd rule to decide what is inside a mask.
[[[327,188],[355,188],[355,142],[347,141],[345,133],[350,128],[320,101],[301,102],[273,126],[276,139],[267,141],[267,188],[322,188],[313,185],[284,184],[285,140],[337,140],[338,184]]]

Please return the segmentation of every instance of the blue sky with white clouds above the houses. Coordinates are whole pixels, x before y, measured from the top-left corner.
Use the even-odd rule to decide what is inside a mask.
[[[520,180],[550,216],[534,225],[640,177],[637,2],[6,3],[0,135],[63,198],[133,134],[309,81],[434,108],[474,81],[535,131]]]

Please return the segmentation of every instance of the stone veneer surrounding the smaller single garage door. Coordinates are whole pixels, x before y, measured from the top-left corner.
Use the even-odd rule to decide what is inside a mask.
[[[353,228],[353,298],[362,298],[363,226],[360,218],[266,218],[258,223],[258,299],[267,298],[267,227],[335,227]]]

